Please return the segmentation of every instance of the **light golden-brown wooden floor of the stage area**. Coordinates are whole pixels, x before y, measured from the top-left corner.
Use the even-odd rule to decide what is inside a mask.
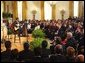
[[[16,48],[16,49],[18,49],[18,51],[23,50],[23,43],[27,41],[27,37],[20,37],[21,42],[19,42],[19,38],[18,38],[18,36],[17,36],[17,37],[16,37],[16,43],[14,43],[14,35],[10,35],[9,37],[10,37],[9,40],[10,40],[11,43],[12,43],[11,49],[15,49],[15,48]],[[7,37],[6,37],[5,39],[8,40]],[[34,39],[34,38],[32,37],[32,35],[29,34],[28,41],[31,42],[33,39]],[[48,48],[49,48],[51,41],[50,41],[49,39],[46,39],[46,40],[48,41]],[[6,50],[6,49],[5,49],[5,47],[4,47],[4,43],[2,43],[2,44],[1,44],[1,52],[4,51],[4,50]]]

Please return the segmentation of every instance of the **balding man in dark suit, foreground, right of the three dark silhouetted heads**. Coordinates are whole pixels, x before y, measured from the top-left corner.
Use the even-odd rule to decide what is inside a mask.
[[[62,54],[62,45],[58,44],[54,48],[55,54],[50,56],[50,62],[66,62],[66,57]]]

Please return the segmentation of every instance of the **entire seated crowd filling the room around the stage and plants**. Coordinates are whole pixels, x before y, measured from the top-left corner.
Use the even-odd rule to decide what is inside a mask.
[[[65,20],[27,20],[20,22],[17,18],[11,28],[13,34],[26,36],[33,30],[41,28],[46,34],[45,38],[51,40],[50,48],[44,40],[41,48],[33,51],[29,48],[29,42],[23,44],[24,50],[18,52],[11,50],[11,42],[5,42],[6,51],[1,51],[2,62],[84,62],[84,20],[78,17]],[[8,27],[8,22],[6,23]],[[19,27],[20,26],[20,27]],[[27,26],[27,27],[26,27]],[[19,27],[19,29],[17,29]],[[8,27],[9,28],[9,27]],[[15,30],[17,29],[17,30]],[[18,33],[17,31],[20,31]],[[3,42],[2,41],[2,42]],[[2,43],[1,42],[1,43]],[[3,42],[3,44],[4,44]]]

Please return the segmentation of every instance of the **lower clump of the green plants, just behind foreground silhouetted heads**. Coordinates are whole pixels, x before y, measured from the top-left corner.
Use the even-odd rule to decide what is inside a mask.
[[[31,50],[34,50],[34,48],[41,47],[41,43],[44,39],[43,38],[34,38],[32,42],[30,42],[30,48]]]

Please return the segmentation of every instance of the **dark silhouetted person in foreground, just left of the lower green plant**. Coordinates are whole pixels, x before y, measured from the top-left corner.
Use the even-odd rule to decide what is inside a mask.
[[[31,62],[33,58],[33,52],[29,50],[28,42],[24,43],[24,50],[19,52],[19,61]]]

